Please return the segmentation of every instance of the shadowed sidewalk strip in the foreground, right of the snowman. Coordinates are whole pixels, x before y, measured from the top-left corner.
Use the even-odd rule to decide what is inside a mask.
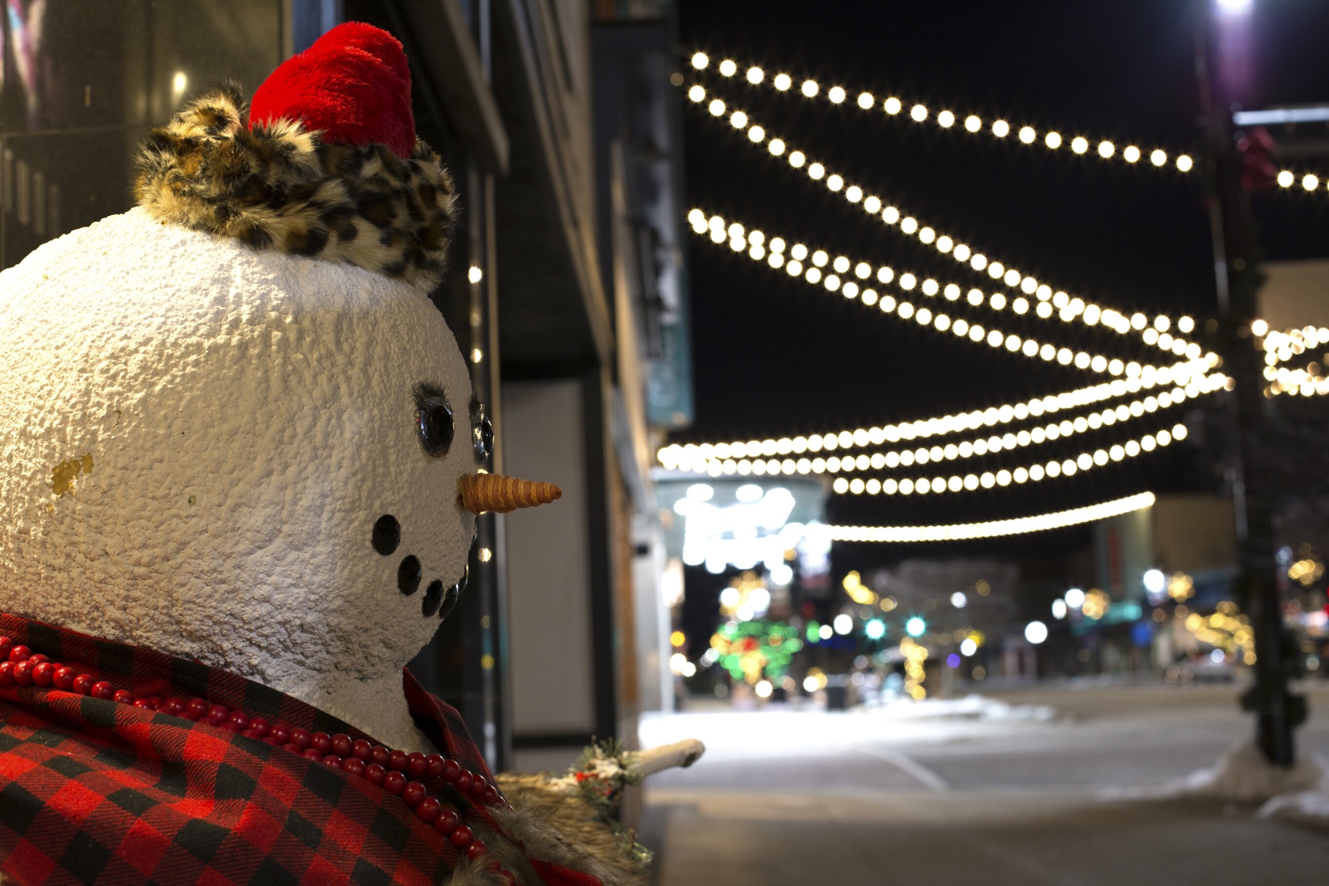
[[[1249,809],[1006,792],[649,801],[661,886],[1329,883],[1329,836]]]

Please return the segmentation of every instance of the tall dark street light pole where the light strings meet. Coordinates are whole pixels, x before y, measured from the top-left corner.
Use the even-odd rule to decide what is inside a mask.
[[[1212,12],[1245,16],[1251,0],[1215,0]],[[1261,476],[1256,446],[1264,413],[1263,367],[1251,341],[1260,288],[1257,250],[1247,194],[1241,189],[1241,159],[1232,138],[1228,105],[1231,96],[1213,94],[1209,69],[1212,17],[1208,0],[1197,0],[1195,73],[1207,143],[1205,181],[1209,223],[1213,235],[1213,268],[1219,296],[1223,361],[1233,380],[1228,399],[1232,433],[1232,499],[1236,513],[1240,580],[1255,628],[1255,687],[1243,705],[1256,715],[1256,741],[1273,764],[1290,766],[1294,760],[1293,725],[1304,712],[1304,699],[1288,691],[1286,638],[1282,630],[1282,599],[1276,579],[1273,502],[1271,484]],[[1232,21],[1227,23],[1229,27]]]

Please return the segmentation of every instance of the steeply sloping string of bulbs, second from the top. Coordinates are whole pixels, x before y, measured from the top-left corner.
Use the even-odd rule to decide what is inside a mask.
[[[694,85],[688,90],[688,98],[691,98],[696,104],[706,101],[706,89],[700,85]],[[1139,325],[1135,325],[1135,323],[1132,323],[1132,319],[1128,319],[1116,311],[1103,308],[1080,298],[1073,299],[1065,292],[1054,294],[1050,286],[1047,286],[1046,283],[1041,283],[1037,278],[1030,276],[1027,274],[1022,274],[1015,268],[1003,264],[1002,262],[990,260],[982,252],[974,252],[968,244],[957,242],[949,234],[944,234],[929,224],[922,224],[921,222],[918,222],[918,219],[916,219],[912,215],[904,214],[894,206],[885,205],[881,201],[881,198],[872,194],[867,194],[864,189],[861,189],[857,185],[847,183],[844,177],[836,173],[831,173],[823,163],[809,161],[808,155],[804,154],[801,150],[789,150],[788,143],[783,138],[776,138],[776,137],[767,138],[767,132],[763,126],[759,126],[758,124],[752,122],[751,117],[748,117],[748,114],[742,110],[730,112],[722,98],[712,98],[707,104],[707,109],[715,117],[723,117],[726,116],[726,113],[728,113],[730,125],[734,126],[734,129],[736,130],[746,132],[748,141],[754,145],[766,143],[767,150],[769,150],[771,154],[775,157],[787,155],[789,166],[792,166],[793,169],[804,169],[808,174],[808,178],[816,182],[823,182],[828,190],[831,190],[835,194],[839,194],[851,205],[860,206],[865,213],[873,217],[880,214],[881,221],[885,222],[888,226],[890,227],[898,226],[897,230],[900,230],[902,234],[908,236],[914,236],[921,243],[925,243],[928,246],[933,246],[938,252],[944,255],[950,255],[957,262],[968,264],[977,272],[986,271],[993,280],[1001,282],[1007,288],[1017,290],[1019,292],[1023,292],[1025,295],[1034,295],[1038,298],[1039,302],[1053,302],[1053,307],[1058,308],[1062,312],[1067,312],[1073,302],[1083,306],[1080,308],[1082,316],[1084,311],[1087,311],[1090,307],[1094,307],[1095,312],[1090,313],[1090,316],[1094,316],[1095,321],[1102,323],[1104,327],[1114,329],[1119,335],[1127,335],[1128,332],[1131,332],[1132,328],[1143,332],[1146,327],[1150,325],[1144,315],[1138,315],[1140,320]],[[1075,313],[1073,312],[1070,313],[1070,316],[1075,316]],[[1189,320],[1188,317],[1183,319]],[[1189,329],[1193,328],[1193,321],[1188,324],[1176,321],[1175,325],[1179,332],[1189,332]],[[1183,329],[1183,325],[1188,328]],[[1172,327],[1174,327],[1172,317],[1167,315],[1159,315],[1158,317],[1155,317],[1151,328],[1155,329],[1155,335],[1162,335],[1163,332],[1168,332]],[[1172,337],[1175,339],[1177,336]],[[1188,341],[1183,340],[1181,347],[1184,348],[1188,344],[1189,344]]]

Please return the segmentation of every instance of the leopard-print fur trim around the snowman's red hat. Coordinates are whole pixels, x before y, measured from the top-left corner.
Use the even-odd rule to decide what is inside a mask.
[[[324,142],[288,120],[251,132],[246,113],[226,86],[153,129],[138,155],[138,203],[255,248],[439,283],[457,207],[433,149],[417,139],[403,159],[387,145]]]

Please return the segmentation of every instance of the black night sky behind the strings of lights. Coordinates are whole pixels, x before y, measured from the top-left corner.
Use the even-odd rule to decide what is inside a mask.
[[[746,110],[772,135],[820,159],[847,182],[1053,288],[1127,315],[1191,313],[1201,328],[1213,313],[1209,222],[1197,174],[1158,170],[1143,161],[1134,167],[1106,162],[1092,150],[1083,157],[1065,146],[1053,153],[1041,142],[1025,146],[1014,134],[1029,124],[1039,138],[1057,129],[1067,142],[1083,134],[1091,145],[1108,138],[1118,146],[1162,146],[1174,155],[1197,157],[1191,3],[684,0],[680,5],[680,53],[700,48],[712,58],[711,72],[702,78],[682,64],[686,84],[699,80],[708,90],[719,89],[731,109]],[[1244,105],[1329,101],[1326,37],[1329,4],[1256,0],[1251,23],[1256,73]],[[740,74],[722,80],[714,72],[720,58],[734,58]],[[823,90],[841,85],[851,98],[835,108],[803,98],[797,86],[785,94],[750,86],[742,72],[751,64],[768,77],[785,72],[795,84],[812,77]],[[864,89],[878,97],[873,113],[853,104]],[[901,98],[905,109],[914,102],[932,113],[950,109],[960,120],[969,113],[986,122],[1001,117],[1013,132],[998,142],[986,133],[969,134],[958,124],[949,132],[920,126],[906,113],[893,118],[882,113],[885,96]],[[686,104],[690,207],[832,255],[839,251],[855,260],[913,270],[920,278],[936,275],[966,290],[998,290],[986,274],[886,227],[880,215],[849,206],[784,158],[748,143],[727,120]],[[1317,134],[1329,138],[1324,126]],[[1298,158],[1294,167],[1324,177],[1329,158]],[[1269,259],[1329,255],[1329,194],[1322,189],[1314,195],[1260,194],[1255,211]],[[1103,379],[902,321],[791,279],[690,230],[686,236],[696,421],[674,437],[678,442],[881,425],[1014,402]],[[877,288],[901,295],[894,287]],[[940,296],[913,295],[917,304],[945,304],[952,316],[985,325],[995,320],[989,311],[966,312]],[[999,328],[1123,360],[1158,361],[1162,356],[1138,339],[1132,343],[1079,321],[1047,323],[1033,313],[1019,319],[1003,312]],[[1213,347],[1203,336],[1197,340]],[[1106,448],[1171,426],[1187,417],[1188,408],[1075,434],[1062,445],[945,462],[944,470],[981,473],[1054,454],[1074,457],[1090,445]],[[910,476],[920,473],[936,469],[914,469]],[[1196,452],[1174,445],[1166,454],[993,491],[832,497],[828,521],[966,522],[1076,507],[1144,489],[1212,487]],[[1080,529],[956,546],[840,547],[863,549],[845,555],[867,565],[920,554],[1051,555],[1084,541],[1087,531]]]

